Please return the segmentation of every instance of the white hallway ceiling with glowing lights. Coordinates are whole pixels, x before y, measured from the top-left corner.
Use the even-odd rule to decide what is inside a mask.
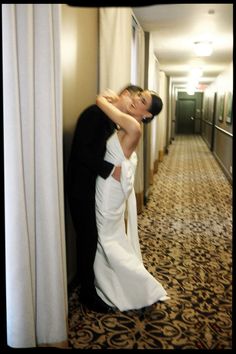
[[[143,30],[150,32],[160,70],[175,87],[184,88],[192,67],[201,67],[204,88],[233,60],[233,4],[167,4],[132,8]],[[213,53],[197,57],[193,43],[209,40]]]

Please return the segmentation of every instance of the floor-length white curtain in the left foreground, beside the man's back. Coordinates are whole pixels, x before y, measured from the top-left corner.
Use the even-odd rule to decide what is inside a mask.
[[[60,5],[3,4],[7,344],[66,345]]]

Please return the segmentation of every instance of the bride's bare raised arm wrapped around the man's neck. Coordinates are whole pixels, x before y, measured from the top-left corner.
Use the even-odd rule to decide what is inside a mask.
[[[111,99],[112,102],[112,99]],[[138,121],[127,113],[121,112],[108,101],[104,95],[97,96],[96,104],[116,124],[118,124],[132,139],[140,138],[141,127]]]

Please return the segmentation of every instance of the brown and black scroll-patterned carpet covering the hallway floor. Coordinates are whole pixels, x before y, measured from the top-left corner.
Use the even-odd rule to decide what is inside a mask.
[[[71,347],[231,349],[232,186],[200,136],[170,145],[138,224],[144,264],[171,299],[100,314],[79,303],[75,288]]]

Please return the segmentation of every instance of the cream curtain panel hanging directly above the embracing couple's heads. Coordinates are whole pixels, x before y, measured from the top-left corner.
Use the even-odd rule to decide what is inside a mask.
[[[99,9],[99,90],[118,92],[131,79],[131,9]]]

